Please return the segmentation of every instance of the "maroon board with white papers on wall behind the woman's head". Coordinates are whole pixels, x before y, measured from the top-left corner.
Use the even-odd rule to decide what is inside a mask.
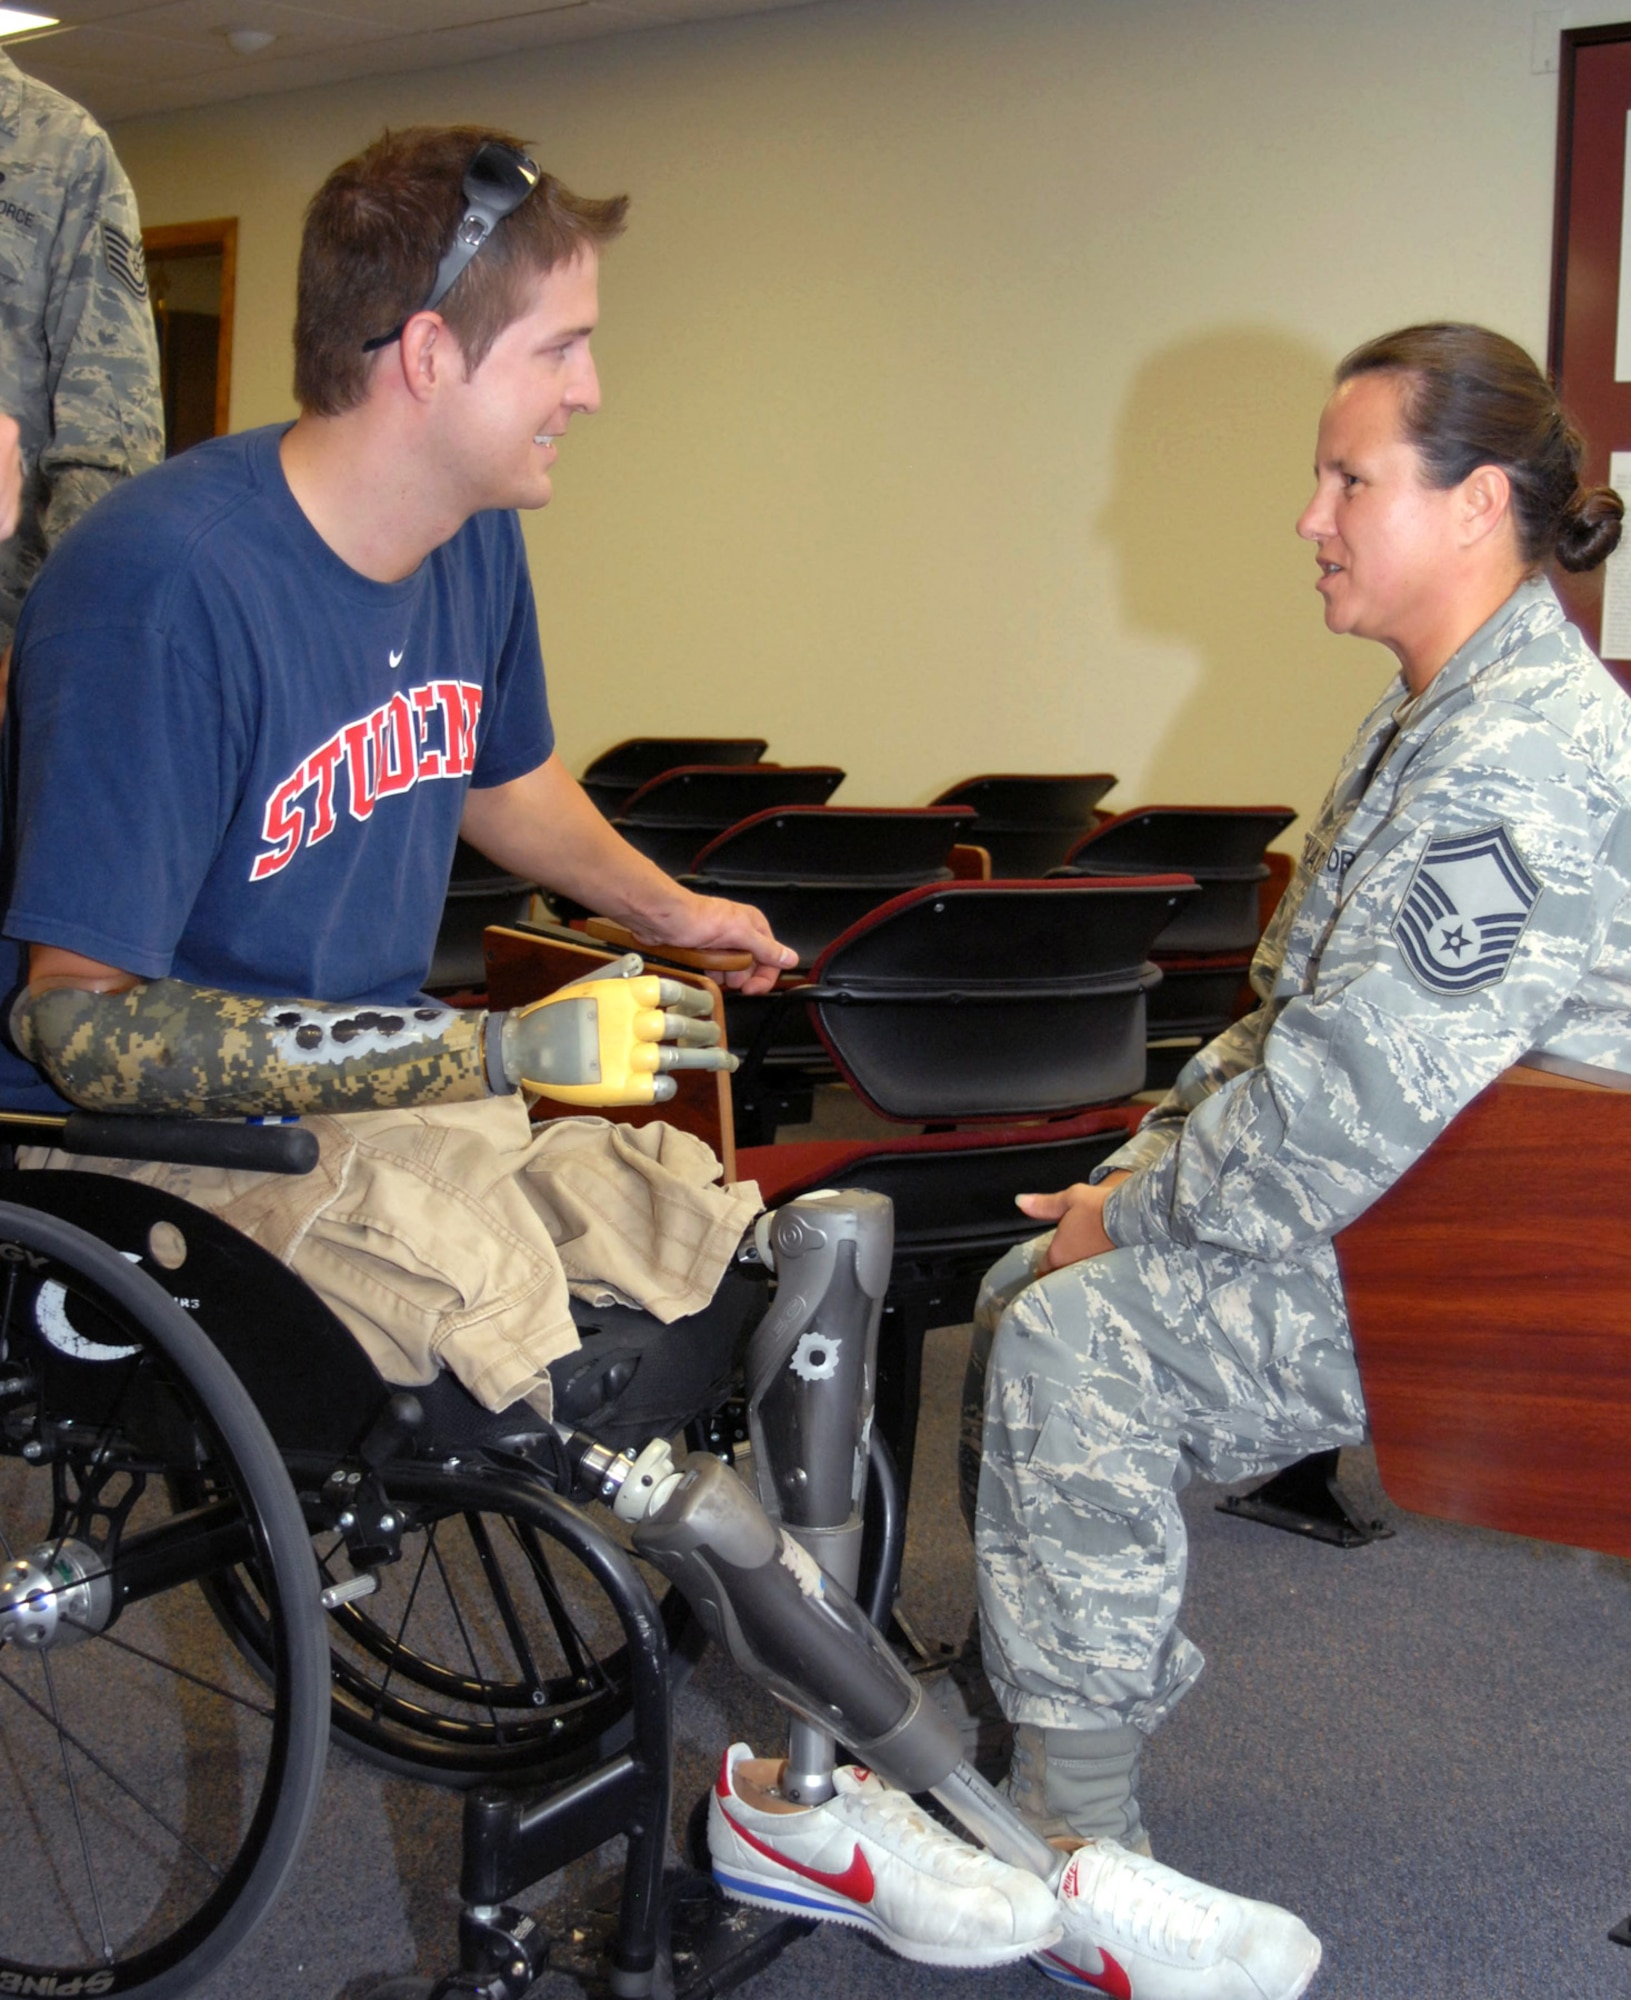
[[[1547,368],[1587,440],[1585,484],[1631,508],[1631,22],[1567,28],[1559,56],[1557,222]],[[1627,544],[1631,544],[1631,524]],[[1555,572],[1569,616],[1631,688],[1631,546]]]

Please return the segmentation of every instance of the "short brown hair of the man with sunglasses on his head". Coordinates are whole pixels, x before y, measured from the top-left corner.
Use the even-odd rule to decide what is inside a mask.
[[[312,196],[300,240],[294,308],[294,394],[312,416],[340,416],[368,394],[374,356],[364,340],[418,312],[464,214],[464,176],[476,152],[522,140],[486,126],[408,126],[382,132],[336,166]],[[532,282],[624,228],[628,196],[596,202],[542,174],[460,272],[436,308],[466,370],[520,318]]]

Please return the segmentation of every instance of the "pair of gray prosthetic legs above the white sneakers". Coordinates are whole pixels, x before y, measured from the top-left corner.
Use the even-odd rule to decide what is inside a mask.
[[[792,1710],[790,1800],[831,1796],[841,1742],[901,1790],[933,1792],[977,1842],[1051,1882],[1063,1856],[963,1762],[957,1730],[853,1598],[889,1204],[861,1192],[802,1196],[766,1222],[778,1294],[748,1348],[758,1496],[718,1458],[676,1458],[662,1440],[634,1458],[590,1444],[580,1482],[596,1482],[634,1524],[634,1548],[736,1666]]]

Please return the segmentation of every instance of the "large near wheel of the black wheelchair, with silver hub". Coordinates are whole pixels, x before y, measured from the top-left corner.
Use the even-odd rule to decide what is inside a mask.
[[[208,1606],[240,1564],[268,1680]],[[326,1724],[310,1540],[246,1392],[152,1278],[0,1204],[0,1992],[220,1970],[296,1860]]]

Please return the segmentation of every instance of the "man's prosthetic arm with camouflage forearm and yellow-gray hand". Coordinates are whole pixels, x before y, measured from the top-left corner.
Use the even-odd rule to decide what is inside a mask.
[[[254,1116],[454,1104],[526,1090],[656,1104],[670,1070],[734,1070],[708,994],[630,954],[508,1014],[332,1006],[148,980],[128,992],[28,988],[12,1038],[72,1104]]]

